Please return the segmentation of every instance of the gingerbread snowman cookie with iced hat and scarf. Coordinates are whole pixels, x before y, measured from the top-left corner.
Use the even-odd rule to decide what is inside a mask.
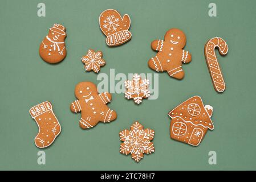
[[[61,24],[54,24],[48,35],[43,39],[39,47],[39,54],[47,63],[59,63],[66,56],[66,28]]]

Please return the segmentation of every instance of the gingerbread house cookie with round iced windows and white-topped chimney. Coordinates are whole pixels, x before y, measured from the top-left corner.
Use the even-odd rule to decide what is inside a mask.
[[[213,130],[213,107],[205,105],[201,97],[194,96],[169,112],[170,137],[180,142],[198,146],[208,129]]]

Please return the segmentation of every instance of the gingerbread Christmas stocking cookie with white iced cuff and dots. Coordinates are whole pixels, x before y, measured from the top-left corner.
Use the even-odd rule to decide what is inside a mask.
[[[59,135],[61,127],[50,102],[42,102],[29,110],[35,119],[39,132],[35,137],[35,145],[39,148],[48,147]]]

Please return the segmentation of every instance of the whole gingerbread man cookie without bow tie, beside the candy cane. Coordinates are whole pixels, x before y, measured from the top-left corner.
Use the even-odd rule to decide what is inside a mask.
[[[159,51],[155,57],[148,61],[148,66],[157,72],[168,72],[170,77],[182,79],[184,71],[182,63],[189,63],[191,55],[183,48],[186,45],[184,32],[177,28],[168,30],[164,40],[154,40],[151,48]]]

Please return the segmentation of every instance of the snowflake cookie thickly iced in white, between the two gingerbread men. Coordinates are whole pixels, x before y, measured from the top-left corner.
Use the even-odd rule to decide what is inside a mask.
[[[148,98],[150,96],[148,85],[149,80],[141,80],[141,77],[136,73],[133,75],[132,81],[127,80],[124,82],[124,86],[127,88],[127,92],[124,94],[125,98],[133,98],[136,104],[140,104],[143,98]]]

